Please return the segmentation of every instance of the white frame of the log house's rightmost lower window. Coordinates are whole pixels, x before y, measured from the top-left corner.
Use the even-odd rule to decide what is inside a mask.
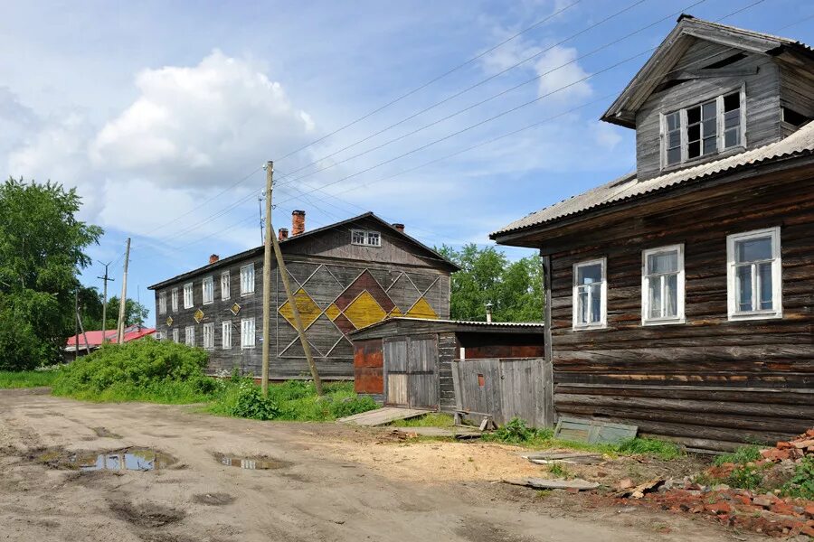
[[[740,312],[737,303],[737,281],[735,278],[735,243],[753,238],[771,238],[771,309]],[[740,320],[767,320],[783,317],[783,285],[782,285],[782,257],[781,257],[781,231],[780,226],[766,229],[752,229],[726,236],[726,293],[728,317],[730,321]],[[757,273],[752,268],[752,300],[758,294]]]

